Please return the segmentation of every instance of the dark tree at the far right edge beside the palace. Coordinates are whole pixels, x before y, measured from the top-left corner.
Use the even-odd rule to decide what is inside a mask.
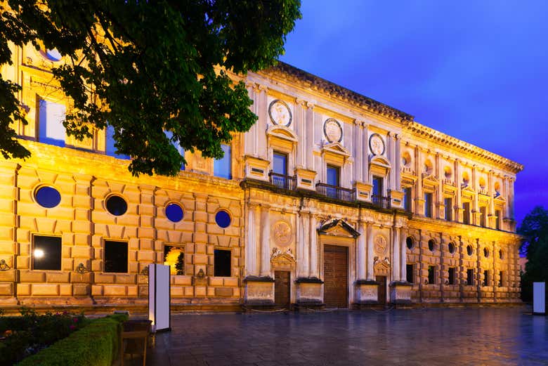
[[[526,271],[521,277],[521,298],[530,301],[533,282],[548,282],[548,210],[535,207],[517,231],[524,237],[521,247],[527,253]]]

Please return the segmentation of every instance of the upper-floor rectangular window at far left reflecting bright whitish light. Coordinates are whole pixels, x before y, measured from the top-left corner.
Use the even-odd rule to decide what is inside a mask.
[[[38,140],[49,145],[65,146],[65,105],[44,99],[38,103]]]

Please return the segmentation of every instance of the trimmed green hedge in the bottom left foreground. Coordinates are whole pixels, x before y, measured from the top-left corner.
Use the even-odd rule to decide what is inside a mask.
[[[19,366],[111,366],[119,347],[121,323],[127,315],[109,315],[22,360]]]

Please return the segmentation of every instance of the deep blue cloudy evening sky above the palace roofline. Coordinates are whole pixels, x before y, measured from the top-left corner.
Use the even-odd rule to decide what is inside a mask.
[[[513,159],[548,208],[548,1],[302,0],[280,60]]]

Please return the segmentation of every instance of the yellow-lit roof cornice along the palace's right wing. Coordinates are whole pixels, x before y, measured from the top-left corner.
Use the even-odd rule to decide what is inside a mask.
[[[504,168],[508,169],[512,173],[518,173],[523,170],[522,164],[497,155],[494,152],[483,150],[482,148],[478,148],[476,145],[472,145],[471,143],[467,143],[463,140],[459,140],[458,138],[446,135],[443,132],[436,131],[417,122],[409,122],[404,128],[426,140],[441,143],[442,145],[455,148],[456,150],[466,154],[474,155],[474,157],[481,157],[488,162],[498,164],[499,166],[504,166]]]

